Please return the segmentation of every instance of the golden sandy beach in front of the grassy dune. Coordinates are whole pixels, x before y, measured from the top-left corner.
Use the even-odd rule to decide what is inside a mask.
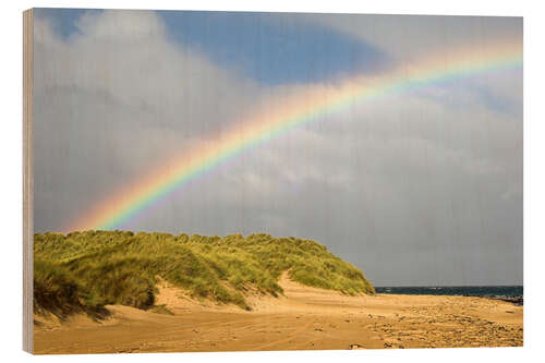
[[[249,292],[252,311],[195,301],[162,283],[174,315],[107,306],[100,322],[35,317],[35,353],[129,353],[439,347],[520,347],[523,307],[469,297],[348,297],[290,281],[284,295]]]

